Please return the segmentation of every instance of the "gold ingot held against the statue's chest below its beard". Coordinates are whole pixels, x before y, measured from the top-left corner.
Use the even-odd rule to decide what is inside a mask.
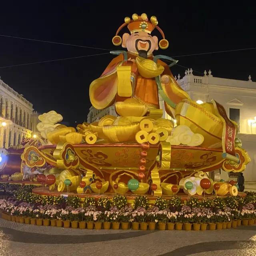
[[[153,60],[138,56],[135,59],[135,63],[137,64],[140,75],[145,78],[154,78],[164,72],[164,67]]]

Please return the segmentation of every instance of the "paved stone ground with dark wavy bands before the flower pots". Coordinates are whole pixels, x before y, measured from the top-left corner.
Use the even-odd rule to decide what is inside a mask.
[[[76,230],[0,219],[0,256],[254,256],[256,225],[230,230]]]

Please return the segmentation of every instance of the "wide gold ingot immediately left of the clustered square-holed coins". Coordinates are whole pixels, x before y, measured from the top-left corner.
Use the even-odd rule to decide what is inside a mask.
[[[127,142],[135,139],[140,130],[139,123],[130,125],[104,126],[102,131],[111,142]]]

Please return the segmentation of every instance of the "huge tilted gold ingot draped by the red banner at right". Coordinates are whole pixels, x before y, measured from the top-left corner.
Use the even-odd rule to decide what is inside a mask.
[[[212,103],[197,104],[183,100],[176,106],[177,125],[186,125],[194,133],[204,136],[202,147],[221,148],[223,123],[215,115]]]

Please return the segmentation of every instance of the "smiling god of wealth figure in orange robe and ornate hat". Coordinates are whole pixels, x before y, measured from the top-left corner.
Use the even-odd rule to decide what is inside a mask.
[[[160,108],[159,92],[164,99],[166,112],[174,118],[176,104],[190,97],[180,88],[169,69],[177,61],[167,56],[153,55],[154,50],[158,50],[158,38],[151,33],[154,28],[160,31],[163,39],[160,40],[159,47],[166,49],[169,43],[164,32],[157,26],[156,17],[152,16],[149,21],[145,13],[141,16],[133,14],[132,20],[126,17],[124,21],[112,42],[116,46],[122,44],[128,51],[111,52],[119,55],[110,62],[100,78],[90,84],[92,105],[96,109],[104,109],[115,104],[118,112],[120,107],[129,107],[122,106],[122,103],[132,98],[133,100],[129,100],[132,103],[130,116],[138,116],[136,111],[132,111],[136,110],[136,104],[144,104],[147,110]],[[121,38],[118,33],[127,25],[130,34],[124,33]],[[160,58],[169,60],[171,64],[168,66]],[[144,114],[145,112],[140,113],[140,116]]]

